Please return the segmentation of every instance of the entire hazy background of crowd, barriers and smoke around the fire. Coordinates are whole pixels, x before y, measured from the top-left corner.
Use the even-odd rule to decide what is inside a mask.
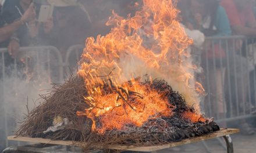
[[[51,83],[76,74],[87,37],[105,35],[112,10],[133,16],[141,1],[0,0],[0,151],[10,145],[26,113]],[[179,0],[179,21],[189,37],[201,111],[223,128],[240,128],[237,152],[254,152],[256,128],[256,1]],[[198,43],[202,42],[202,43]],[[243,143],[242,143],[243,142]],[[177,152],[225,152],[222,140]],[[218,146],[220,149],[216,149]]]

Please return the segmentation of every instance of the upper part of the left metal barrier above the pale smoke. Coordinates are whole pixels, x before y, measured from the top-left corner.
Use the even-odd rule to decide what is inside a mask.
[[[19,67],[23,67],[23,73],[27,72],[27,75],[29,72],[37,72],[37,75],[33,74],[37,79],[44,78],[43,73],[47,73],[48,82],[51,79],[63,80],[62,56],[54,46],[23,47],[19,49],[15,59],[9,56],[6,48],[0,48],[0,61],[2,79],[6,77],[6,73],[19,75]]]

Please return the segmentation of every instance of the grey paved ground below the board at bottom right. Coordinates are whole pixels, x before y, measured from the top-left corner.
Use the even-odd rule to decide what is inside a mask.
[[[256,134],[252,136],[243,136],[242,134],[232,134],[231,137],[233,140],[234,152],[256,153]],[[207,140],[205,142],[212,153],[226,152],[226,150],[222,147],[222,145],[217,140]],[[187,148],[187,151],[184,151],[186,150],[186,148]],[[197,149],[197,150],[194,150],[194,149]],[[169,153],[169,152],[205,153],[207,152],[207,150],[205,150],[202,143],[194,143],[193,145],[184,145],[184,147],[182,148],[175,148],[172,150],[168,149],[168,150],[163,150],[159,152],[161,153]]]

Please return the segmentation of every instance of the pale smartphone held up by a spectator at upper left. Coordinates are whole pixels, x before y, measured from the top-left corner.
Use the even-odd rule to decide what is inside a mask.
[[[47,21],[47,19],[49,19],[49,17],[52,17],[53,12],[54,12],[54,6],[52,6],[52,5],[41,5],[37,21],[38,22]]]

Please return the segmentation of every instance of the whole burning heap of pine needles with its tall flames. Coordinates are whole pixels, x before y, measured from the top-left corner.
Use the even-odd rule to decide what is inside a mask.
[[[194,81],[195,66],[185,51],[192,40],[176,20],[179,11],[172,0],[143,3],[134,17],[113,13],[106,36],[87,38],[77,77],[42,96],[44,103],[30,112],[17,134],[95,148],[161,144],[219,129],[200,115],[204,89]],[[53,131],[49,127],[56,118],[68,122],[55,123],[61,128]]]

